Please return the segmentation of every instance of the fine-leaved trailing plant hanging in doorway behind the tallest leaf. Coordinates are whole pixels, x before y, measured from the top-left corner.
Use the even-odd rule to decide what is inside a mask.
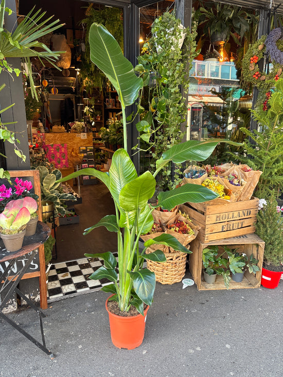
[[[102,71],[100,71],[90,59],[90,28],[94,22],[104,25],[119,43],[121,50],[123,50],[122,10],[120,8],[89,4],[85,15],[85,19],[81,21],[81,24],[85,29],[85,52],[81,55],[80,76],[82,80],[87,79],[87,87],[99,87],[102,89],[105,86],[106,78]]]

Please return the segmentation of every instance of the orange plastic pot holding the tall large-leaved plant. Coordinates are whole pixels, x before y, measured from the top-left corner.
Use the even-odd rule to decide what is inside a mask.
[[[149,306],[145,309],[144,316],[138,314],[134,317],[121,317],[111,313],[107,308],[107,303],[108,299],[105,303],[105,307],[109,314],[110,333],[114,346],[118,348],[127,348],[128,350],[140,346],[144,340]]]

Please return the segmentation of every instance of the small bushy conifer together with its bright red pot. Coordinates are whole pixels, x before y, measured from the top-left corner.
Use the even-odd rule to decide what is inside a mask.
[[[276,288],[283,272],[283,218],[277,211],[275,193],[258,211],[256,234],[265,242],[261,285]]]

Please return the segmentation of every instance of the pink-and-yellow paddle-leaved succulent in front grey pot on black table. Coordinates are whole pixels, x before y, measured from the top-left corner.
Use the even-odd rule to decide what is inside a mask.
[[[9,202],[0,213],[0,237],[8,252],[21,249],[29,220],[29,210],[22,206],[20,199]]]

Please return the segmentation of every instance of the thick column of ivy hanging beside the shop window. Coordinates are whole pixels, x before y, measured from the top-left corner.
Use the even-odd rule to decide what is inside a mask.
[[[183,33],[185,39],[181,48]],[[184,136],[181,131],[187,113],[184,93],[188,91],[192,60],[198,53],[196,26],[184,29],[174,11],[165,12],[153,22],[151,35],[138,57],[135,70],[144,81],[143,100],[139,106],[141,121],[136,127],[140,132],[140,148],[149,151],[154,145],[150,158],[150,170],[153,171],[157,156],[180,143]],[[179,168],[175,167],[175,178],[180,176]],[[160,176],[162,189],[173,188],[178,183],[178,179],[171,182],[171,169],[171,166],[166,167]]]

